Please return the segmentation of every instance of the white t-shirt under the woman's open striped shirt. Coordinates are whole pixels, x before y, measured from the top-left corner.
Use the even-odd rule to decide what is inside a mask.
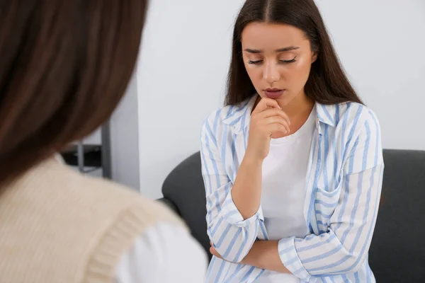
[[[315,108],[302,127],[288,137],[272,139],[263,161],[261,207],[269,240],[308,233],[304,216],[307,166],[314,131]],[[299,282],[294,275],[265,272],[261,283]]]

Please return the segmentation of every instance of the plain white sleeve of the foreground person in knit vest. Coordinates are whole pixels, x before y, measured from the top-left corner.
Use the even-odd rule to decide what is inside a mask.
[[[143,233],[115,268],[116,283],[203,282],[205,251],[183,228],[161,223]]]

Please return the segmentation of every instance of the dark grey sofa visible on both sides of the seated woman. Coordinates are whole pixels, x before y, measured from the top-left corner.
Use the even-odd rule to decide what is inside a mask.
[[[369,252],[378,283],[425,282],[425,151],[384,150],[382,201]],[[200,154],[168,175],[161,199],[209,253]]]

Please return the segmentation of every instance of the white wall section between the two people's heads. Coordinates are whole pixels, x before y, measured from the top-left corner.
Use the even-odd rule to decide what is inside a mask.
[[[166,175],[198,151],[200,127],[222,102],[242,0],[150,1],[139,95],[140,190],[160,197]]]

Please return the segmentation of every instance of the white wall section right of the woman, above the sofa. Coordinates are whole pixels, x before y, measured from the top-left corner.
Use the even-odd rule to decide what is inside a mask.
[[[425,149],[425,0],[317,0],[382,144]]]

